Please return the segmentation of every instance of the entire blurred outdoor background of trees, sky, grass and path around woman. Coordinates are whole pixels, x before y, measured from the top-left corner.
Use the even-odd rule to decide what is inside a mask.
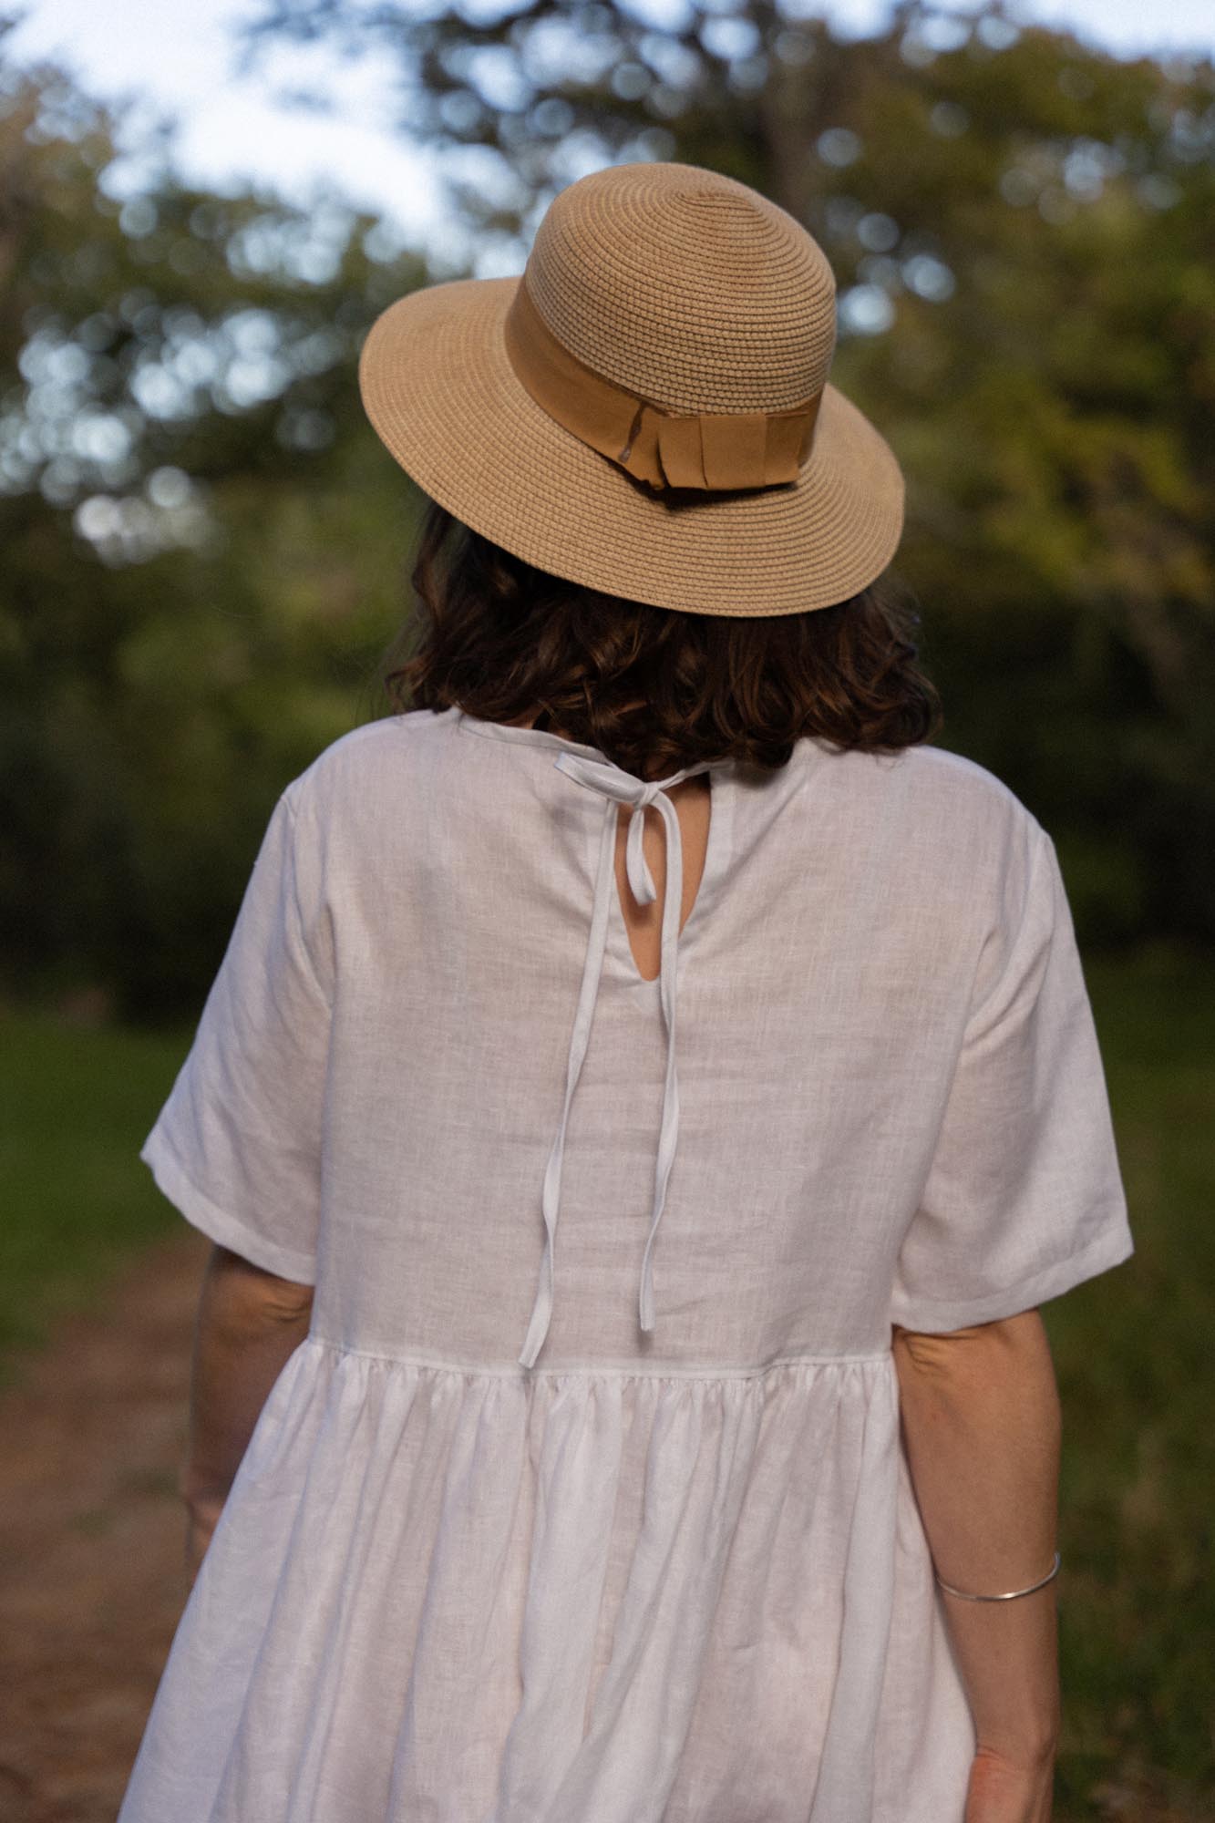
[[[940,744],[1056,840],[1137,1238],[1044,1313],[1056,1816],[1215,1818],[1213,53],[1199,0],[0,16],[0,1818],[113,1818],[184,1601],[206,1243],[137,1150],[279,791],[389,713],[363,334],[635,159],[825,248]]]

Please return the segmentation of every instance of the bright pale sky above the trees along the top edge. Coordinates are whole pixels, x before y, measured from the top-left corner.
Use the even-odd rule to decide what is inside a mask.
[[[974,5],[943,0],[943,9]],[[389,67],[376,57],[345,62],[328,47],[286,46],[237,80],[234,22],[259,11],[254,0],[26,0],[15,11],[11,58],[53,60],[93,97],[130,98],[131,139],[142,118],[171,117],[173,162],[188,180],[217,190],[252,180],[297,202],[336,188],[398,239],[460,264],[465,250],[443,219],[434,160],[389,126]],[[841,36],[868,36],[887,16],[883,0],[823,0],[814,11]],[[1009,16],[1069,27],[1115,57],[1215,53],[1211,0],[1020,0]],[[336,113],[288,109],[281,93],[303,84],[332,93]],[[135,188],[139,171],[126,180]]]

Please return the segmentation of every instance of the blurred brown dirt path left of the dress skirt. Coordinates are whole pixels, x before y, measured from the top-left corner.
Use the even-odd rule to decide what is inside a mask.
[[[140,1252],[0,1391],[0,1823],[117,1816],[186,1599],[206,1252],[192,1231]]]

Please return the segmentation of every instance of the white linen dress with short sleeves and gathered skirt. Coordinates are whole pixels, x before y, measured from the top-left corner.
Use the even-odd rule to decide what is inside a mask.
[[[961,1823],[890,1325],[1133,1252],[1069,906],[943,749],[708,769],[682,933],[670,797],[560,735],[283,791],[140,1158],[312,1325],[119,1823]]]

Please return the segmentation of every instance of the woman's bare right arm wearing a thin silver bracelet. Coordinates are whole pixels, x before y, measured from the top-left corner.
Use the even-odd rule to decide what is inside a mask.
[[[938,1575],[1020,1590],[1054,1560],[1060,1402],[1038,1311],[950,1334],[896,1329],[903,1440]],[[1016,1601],[941,1591],[980,1746],[1049,1759],[1058,1739],[1056,1584]]]

